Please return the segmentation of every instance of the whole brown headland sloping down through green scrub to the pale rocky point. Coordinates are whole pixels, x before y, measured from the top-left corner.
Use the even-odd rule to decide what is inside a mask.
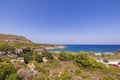
[[[11,34],[0,34],[0,43],[9,44],[15,48],[26,48],[26,47],[46,48],[46,49],[64,48],[64,46],[62,45],[34,43],[24,36],[11,35]]]

